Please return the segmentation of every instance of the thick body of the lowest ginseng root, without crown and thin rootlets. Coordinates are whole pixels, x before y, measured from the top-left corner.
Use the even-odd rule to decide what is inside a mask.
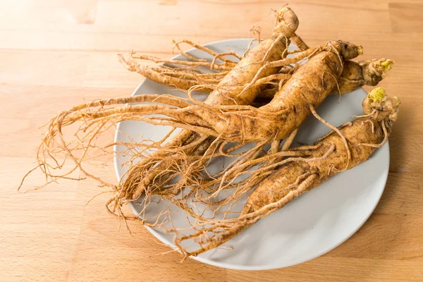
[[[347,161],[347,151],[342,138],[336,133],[332,133],[319,142],[317,149],[311,151],[310,158],[314,158],[316,161],[290,162],[264,179],[250,195],[243,214],[255,212],[266,204],[285,197],[290,192],[290,189],[286,188],[292,183],[300,185],[305,180],[312,179],[309,181],[307,189],[301,191],[306,192],[317,187],[331,176],[367,161],[376,148],[362,144],[377,145],[384,138],[381,125],[371,123],[368,118],[358,118],[351,125],[345,125],[341,129],[341,133],[348,141],[351,152],[350,161]],[[328,157],[321,158],[326,153],[328,153]],[[302,179],[298,181],[299,177],[302,177]],[[272,189],[269,189],[269,187],[272,187]]]

